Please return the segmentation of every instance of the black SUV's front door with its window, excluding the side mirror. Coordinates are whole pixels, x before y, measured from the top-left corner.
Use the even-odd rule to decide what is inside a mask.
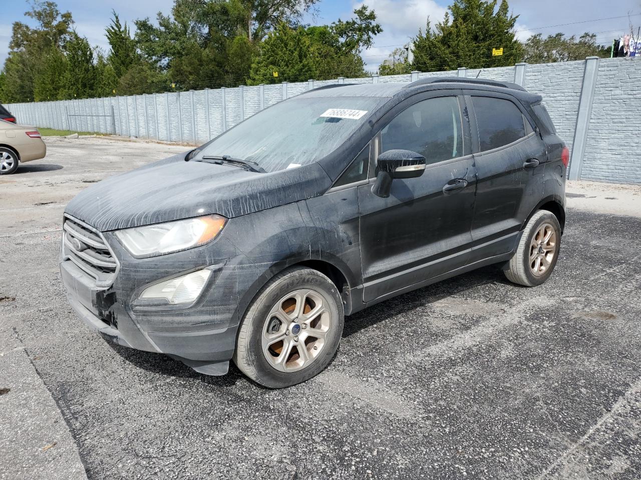
[[[463,97],[431,92],[388,118],[374,158],[400,148],[427,166],[422,177],[393,180],[388,198],[372,193],[374,179],[358,187],[365,302],[465,265],[472,241],[476,171]]]

